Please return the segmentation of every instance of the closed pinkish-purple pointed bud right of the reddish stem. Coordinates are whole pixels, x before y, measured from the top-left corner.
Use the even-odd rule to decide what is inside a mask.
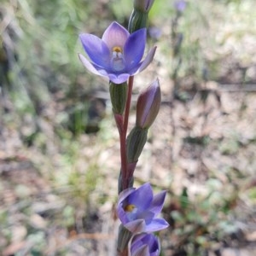
[[[159,112],[160,103],[160,84],[156,79],[138,96],[136,125],[142,129],[148,129]]]

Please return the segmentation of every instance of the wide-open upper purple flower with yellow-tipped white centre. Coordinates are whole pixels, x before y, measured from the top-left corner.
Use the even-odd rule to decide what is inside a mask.
[[[90,61],[81,54],[79,58],[91,73],[108,77],[114,84],[122,84],[130,76],[142,72],[153,60],[156,47],[150,49],[142,61],[146,37],[145,28],[130,34],[114,21],[102,39],[87,33],[79,35]]]

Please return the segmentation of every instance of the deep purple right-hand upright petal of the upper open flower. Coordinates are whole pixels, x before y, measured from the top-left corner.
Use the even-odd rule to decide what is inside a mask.
[[[127,39],[124,47],[126,69],[135,67],[142,60],[146,45],[146,28],[137,30]]]

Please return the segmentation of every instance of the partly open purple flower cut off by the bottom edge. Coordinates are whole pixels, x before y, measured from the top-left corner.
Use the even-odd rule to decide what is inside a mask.
[[[131,240],[131,256],[159,256],[160,241],[153,234],[139,234]]]

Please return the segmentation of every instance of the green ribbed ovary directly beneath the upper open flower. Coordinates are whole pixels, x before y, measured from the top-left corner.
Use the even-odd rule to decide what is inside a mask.
[[[114,84],[109,83],[109,93],[112,103],[113,113],[123,114],[127,99],[127,83]]]

